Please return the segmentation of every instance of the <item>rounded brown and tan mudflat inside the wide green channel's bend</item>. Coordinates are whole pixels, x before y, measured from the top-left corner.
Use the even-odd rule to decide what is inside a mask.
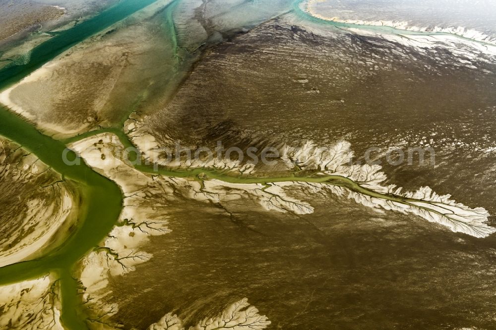
[[[71,183],[36,156],[8,140],[0,143],[0,265],[6,266],[39,254],[71,227],[79,199]]]

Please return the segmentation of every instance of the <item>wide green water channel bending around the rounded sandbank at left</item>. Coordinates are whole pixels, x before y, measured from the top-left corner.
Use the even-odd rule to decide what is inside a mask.
[[[93,171],[84,162],[69,166],[62,161],[65,145],[38,132],[31,124],[5,108],[0,109],[0,133],[35,154],[42,162],[80,184],[83,207],[79,213],[80,226],[61,246],[48,249],[47,255],[0,268],[0,284],[19,282],[46,275],[56,270],[71,270],[73,265],[102,239],[96,233],[107,234],[121,213],[123,196],[113,181]],[[71,153],[75,157],[74,153]],[[105,221],[107,219],[107,221]],[[102,221],[103,220],[103,221]],[[68,299],[70,288],[65,286],[70,276],[61,278],[62,296]],[[74,291],[76,293],[76,291]],[[86,329],[76,318],[62,310],[62,322],[69,329]]]

